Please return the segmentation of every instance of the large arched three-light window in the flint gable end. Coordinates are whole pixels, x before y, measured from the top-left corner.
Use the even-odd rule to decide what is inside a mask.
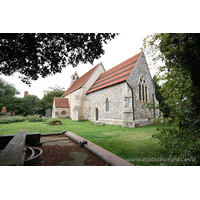
[[[139,100],[143,102],[148,102],[148,87],[147,82],[143,76],[140,76],[138,83],[138,94]]]

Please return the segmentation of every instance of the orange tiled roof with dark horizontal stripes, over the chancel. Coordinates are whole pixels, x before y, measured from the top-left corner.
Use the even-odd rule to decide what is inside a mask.
[[[142,52],[101,74],[88,93],[125,81]]]

